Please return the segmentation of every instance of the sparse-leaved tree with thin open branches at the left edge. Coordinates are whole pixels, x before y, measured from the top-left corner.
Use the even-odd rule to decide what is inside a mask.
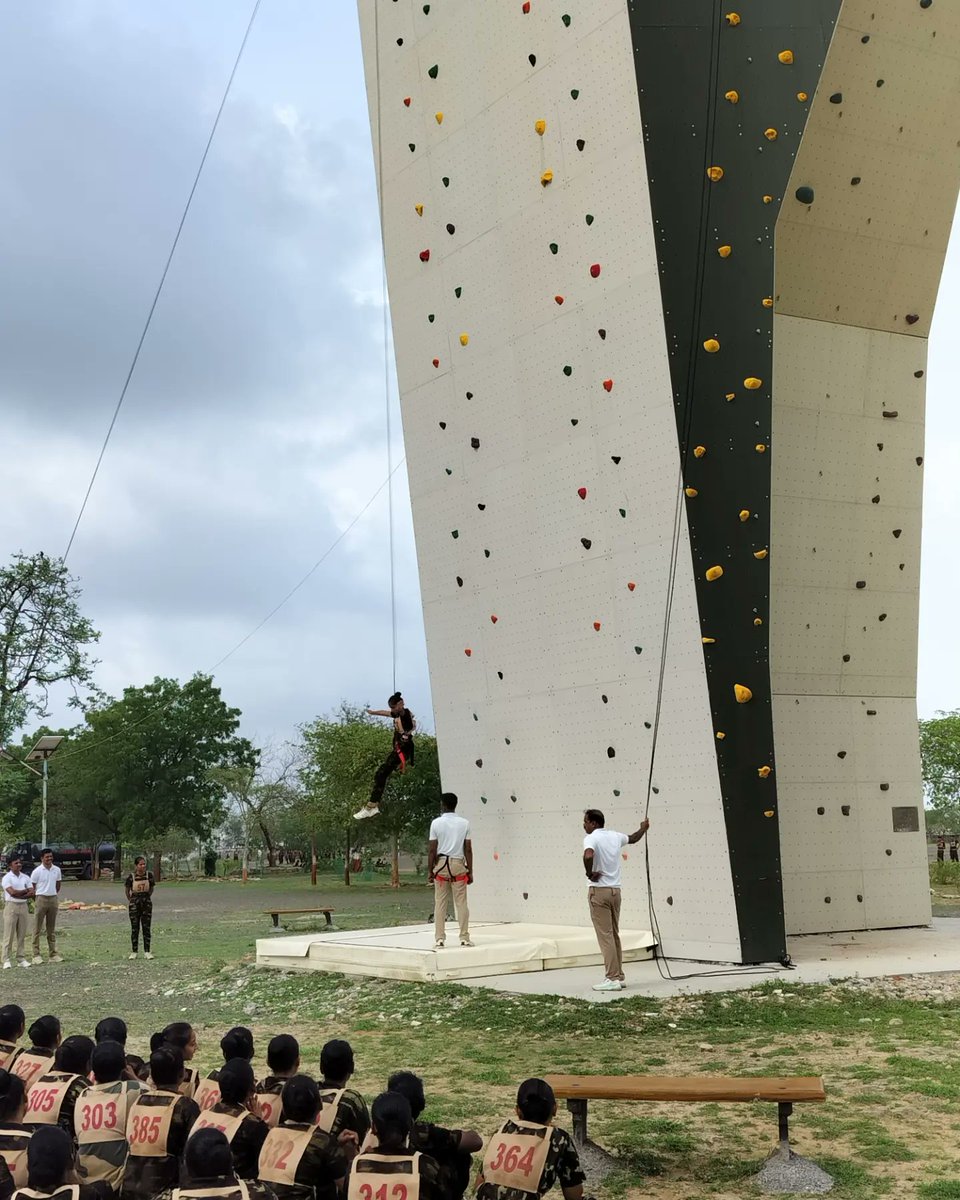
[[[79,596],[60,558],[14,554],[0,569],[0,744],[31,714],[47,715],[53,684],[68,683],[76,707],[79,689],[92,689],[96,662],[86,647],[100,634],[80,613]]]

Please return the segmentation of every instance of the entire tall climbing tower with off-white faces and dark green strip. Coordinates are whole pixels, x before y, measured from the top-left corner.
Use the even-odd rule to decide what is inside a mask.
[[[920,473],[905,452],[923,454],[911,355],[956,192],[956,18],[935,53],[919,22],[941,0],[875,0],[886,83],[854,116],[833,100],[852,83],[827,80],[869,13],[840,0],[359,8],[440,764],[473,823],[473,911],[586,923],[582,810],[630,830],[649,797],[668,954],[779,958],[785,895],[794,931],[924,919],[920,835],[878,822],[905,828],[918,804]],[[940,66],[920,83],[917,55]],[[863,92],[865,71],[839,74]],[[924,103],[949,112],[913,139]],[[856,203],[840,194],[851,155],[865,158]],[[906,308],[887,313],[906,281]],[[884,551],[913,551],[894,583],[853,503],[880,470],[874,425],[870,455],[890,467],[868,516],[900,505]],[[872,578],[852,599],[851,571]],[[863,654],[856,676],[836,647]],[[868,857],[883,882],[853,892]],[[643,928],[643,856],[625,858],[623,920]]]

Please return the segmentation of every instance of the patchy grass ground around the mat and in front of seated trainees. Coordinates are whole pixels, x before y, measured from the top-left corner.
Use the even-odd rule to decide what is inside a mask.
[[[67,884],[65,900],[122,899],[110,884]],[[398,984],[342,976],[284,976],[251,967],[266,936],[262,910],[330,905],[341,928],[426,920],[422,883],[391,890],[380,878],[350,888],[320,877],[163,884],[156,895],[156,959],[128,962],[126,912],[60,918],[61,966],[8,971],[4,1000],[30,1018],[54,1012],[65,1032],[91,1032],[124,1015],[131,1049],[172,1020],[198,1028],[199,1061],[214,1066],[230,1025],[258,1044],[295,1033],[304,1067],[347,1037],[356,1086],[370,1098],[390,1070],[424,1075],[428,1115],[492,1130],[518,1080],[547,1072],[653,1074],[823,1074],[828,1103],[798,1106],[793,1141],[835,1175],[841,1198],[960,1200],[960,979],[941,977],[922,1000],[865,989],[794,986],[672,1001],[629,996],[593,1006],[455,985]],[[559,1120],[569,1128],[569,1115]],[[755,1194],[749,1176],[775,1140],[770,1105],[594,1104],[592,1136],[619,1169],[592,1188],[601,1198],[733,1200]]]

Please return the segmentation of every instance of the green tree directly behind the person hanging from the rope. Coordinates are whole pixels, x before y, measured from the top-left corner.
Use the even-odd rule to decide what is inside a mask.
[[[370,797],[373,775],[390,751],[389,728],[374,722],[366,709],[343,703],[337,713],[317,718],[300,732],[304,758],[300,778],[308,828],[314,835],[340,835],[347,852],[344,883],[350,882],[353,844],[360,838],[389,842],[391,882],[398,887],[401,847],[418,836],[418,844],[426,840],[428,822],[439,808],[437,739],[418,736],[415,766],[394,774],[380,815],[358,826],[353,814]]]

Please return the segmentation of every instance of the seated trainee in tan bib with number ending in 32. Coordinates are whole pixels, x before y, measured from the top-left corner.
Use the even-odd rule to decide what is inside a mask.
[[[283,1116],[266,1135],[259,1177],[278,1200],[336,1200],[340,1181],[356,1153],[356,1134],[338,1138],[317,1126],[320,1090],[307,1075],[294,1075],[283,1086]]]

